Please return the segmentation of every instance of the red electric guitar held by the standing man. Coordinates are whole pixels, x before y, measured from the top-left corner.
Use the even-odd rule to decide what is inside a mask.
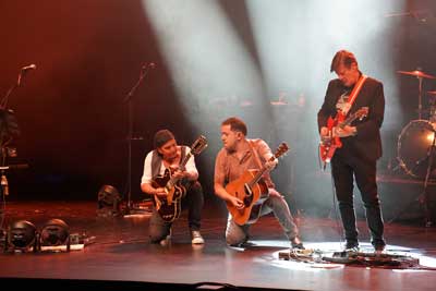
[[[326,168],[327,162],[330,162],[331,158],[335,155],[337,148],[342,147],[342,142],[339,136],[334,136],[334,128],[343,129],[347,125],[350,125],[356,119],[362,120],[368,113],[367,107],[362,107],[354,113],[350,114],[347,119],[342,114],[342,112],[338,111],[335,119],[331,117],[327,120],[327,129],[328,129],[328,138],[326,141],[322,141],[319,143],[319,156],[322,161],[324,162],[324,169]]]

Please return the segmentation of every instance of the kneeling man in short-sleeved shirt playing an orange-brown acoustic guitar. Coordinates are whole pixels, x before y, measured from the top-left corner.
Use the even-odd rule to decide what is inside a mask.
[[[288,204],[268,173],[288,148],[282,144],[272,155],[263,140],[249,140],[246,133],[245,123],[238,118],[221,123],[223,148],[216,157],[214,186],[229,209],[226,242],[231,246],[247,245],[250,225],[272,211],[291,246],[304,250]]]

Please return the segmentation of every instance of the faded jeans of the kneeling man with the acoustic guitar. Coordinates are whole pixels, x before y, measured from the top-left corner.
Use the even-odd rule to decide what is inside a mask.
[[[261,216],[274,213],[276,219],[279,221],[284,234],[289,240],[299,235],[299,230],[293,222],[293,217],[289,210],[288,204],[283,196],[275,189],[269,189],[269,197],[262,206]],[[226,242],[228,245],[239,245],[249,240],[250,225],[237,225],[231,215],[229,214],[226,229]]]

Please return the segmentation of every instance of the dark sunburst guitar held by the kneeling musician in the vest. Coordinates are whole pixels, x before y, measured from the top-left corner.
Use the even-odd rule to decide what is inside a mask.
[[[180,161],[177,170],[183,170],[191,156],[198,155],[207,147],[207,140],[203,135],[191,145],[191,151],[187,153]],[[164,187],[167,196],[155,196],[156,209],[160,217],[167,221],[172,222],[179,218],[182,211],[181,201],[186,194],[186,184],[175,177],[172,177],[173,171],[166,169],[164,175],[159,175],[152,181],[154,187]]]

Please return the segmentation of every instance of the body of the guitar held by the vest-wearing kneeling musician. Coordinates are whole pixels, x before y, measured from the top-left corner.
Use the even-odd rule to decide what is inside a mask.
[[[168,187],[168,181],[170,179],[171,173],[167,169],[164,175],[157,177],[152,182],[154,187],[165,187],[167,191],[167,196],[164,198],[155,195],[156,209],[160,217],[167,222],[172,222],[179,218],[182,211],[182,197],[186,194],[186,189],[179,183],[172,187]]]

